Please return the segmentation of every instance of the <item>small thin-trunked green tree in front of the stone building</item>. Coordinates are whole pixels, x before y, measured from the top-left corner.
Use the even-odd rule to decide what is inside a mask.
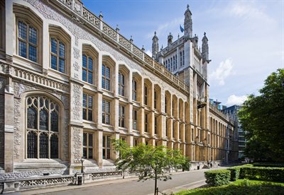
[[[112,141],[114,150],[119,153],[116,160],[116,169],[123,172],[135,172],[139,181],[154,179],[155,194],[158,194],[157,180],[168,180],[168,170],[181,169],[188,165],[188,160],[180,153],[180,150],[168,149],[165,146],[146,146],[141,143],[135,147],[127,146],[121,140]]]

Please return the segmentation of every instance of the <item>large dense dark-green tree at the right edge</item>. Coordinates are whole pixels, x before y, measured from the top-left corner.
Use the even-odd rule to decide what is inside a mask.
[[[271,73],[259,95],[249,95],[239,112],[248,132],[246,155],[256,160],[284,160],[284,69]]]

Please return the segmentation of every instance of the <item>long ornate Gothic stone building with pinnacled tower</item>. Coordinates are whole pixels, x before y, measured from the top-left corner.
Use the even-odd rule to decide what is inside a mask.
[[[160,51],[154,36],[153,59],[79,0],[0,2],[0,180],[74,175],[81,157],[111,170],[111,138],[224,161],[233,124],[209,105],[188,7],[185,35]]]

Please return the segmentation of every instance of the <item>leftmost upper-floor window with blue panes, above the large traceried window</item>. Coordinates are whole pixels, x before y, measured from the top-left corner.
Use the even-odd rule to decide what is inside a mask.
[[[18,21],[18,55],[37,61],[38,30],[23,21]]]

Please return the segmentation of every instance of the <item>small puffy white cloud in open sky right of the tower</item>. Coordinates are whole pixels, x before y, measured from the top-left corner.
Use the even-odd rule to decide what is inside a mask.
[[[225,79],[232,73],[233,66],[231,58],[221,61],[217,69],[210,73],[209,78],[218,81],[219,85],[224,85]]]

